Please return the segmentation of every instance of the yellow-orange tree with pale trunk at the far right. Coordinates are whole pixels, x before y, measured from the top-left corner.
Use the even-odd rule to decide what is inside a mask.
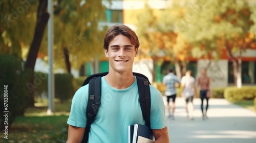
[[[253,22],[249,19],[251,10],[246,1],[195,1],[198,12],[189,18],[181,30],[195,47],[207,53],[215,51],[219,59],[224,47],[233,63],[234,81],[241,87],[241,56],[251,48],[253,35],[249,31]],[[238,52],[239,54],[235,55]],[[212,55],[212,54],[210,54]]]

